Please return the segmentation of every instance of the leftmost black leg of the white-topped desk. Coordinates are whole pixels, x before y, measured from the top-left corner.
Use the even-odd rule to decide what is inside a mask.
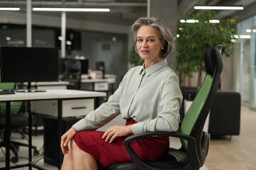
[[[6,130],[5,130],[5,142],[6,142],[6,169],[10,166],[10,134],[11,134],[11,102],[6,101]]]

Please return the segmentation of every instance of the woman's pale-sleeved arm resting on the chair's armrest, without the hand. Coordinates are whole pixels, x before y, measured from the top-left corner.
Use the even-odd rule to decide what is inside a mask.
[[[140,132],[176,131],[179,128],[179,108],[182,104],[182,92],[179,79],[172,74],[162,81],[160,91],[159,113],[156,118],[150,118],[132,125],[134,134]]]

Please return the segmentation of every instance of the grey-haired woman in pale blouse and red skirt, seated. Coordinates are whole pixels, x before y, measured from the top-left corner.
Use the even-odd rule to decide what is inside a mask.
[[[165,59],[173,49],[174,38],[156,18],[139,18],[131,29],[135,50],[145,62],[130,69],[106,103],[62,136],[62,170],[101,169],[116,162],[131,162],[123,145],[126,137],[178,129],[182,93],[178,77]],[[126,119],[125,126],[113,126],[106,132],[90,131],[119,114]],[[169,138],[146,137],[132,142],[132,147],[145,161],[163,159],[167,156]]]

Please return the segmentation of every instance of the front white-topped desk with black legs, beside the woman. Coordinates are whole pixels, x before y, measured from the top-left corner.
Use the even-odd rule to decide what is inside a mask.
[[[10,121],[11,121],[11,113],[10,113],[10,103],[11,101],[45,101],[45,100],[57,100],[57,117],[58,117],[58,128],[57,128],[57,135],[58,139],[61,137],[61,127],[62,127],[62,113],[65,110],[65,103],[67,101],[72,100],[82,100],[82,99],[94,99],[96,97],[106,96],[106,93],[103,92],[95,92],[95,91],[77,91],[77,90],[67,90],[67,89],[52,89],[46,92],[35,92],[35,93],[16,93],[16,94],[8,94],[8,95],[1,95],[0,101],[6,102],[6,167],[0,169],[13,169],[23,166],[29,166],[29,169],[32,169],[32,166],[38,169],[42,169],[36,165],[30,164],[32,161],[32,133],[31,133],[31,124],[32,124],[32,116],[29,112],[28,116],[28,164],[21,165],[21,166],[10,166]],[[28,102],[30,105],[30,102]],[[30,108],[30,107],[28,107]],[[84,109],[87,111],[94,110],[94,106],[83,106]],[[67,114],[68,116],[68,114]],[[61,150],[59,149],[59,160],[61,164],[62,157],[61,157]],[[59,169],[60,169],[59,164]]]

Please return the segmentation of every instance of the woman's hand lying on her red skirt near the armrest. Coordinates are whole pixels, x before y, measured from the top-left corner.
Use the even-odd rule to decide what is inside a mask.
[[[127,125],[127,126],[115,125],[111,128],[108,128],[106,132],[104,132],[102,139],[106,138],[105,142],[108,142],[109,140],[109,143],[111,143],[113,142],[114,139],[116,139],[116,137],[130,135],[131,133],[133,133],[133,131],[131,130],[131,125]]]

